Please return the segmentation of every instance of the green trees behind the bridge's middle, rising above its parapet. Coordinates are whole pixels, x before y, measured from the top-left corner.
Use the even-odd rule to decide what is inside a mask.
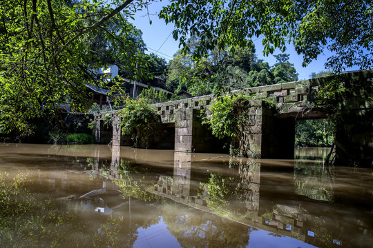
[[[298,80],[289,54],[275,55],[278,62],[270,68],[258,59],[251,41],[246,48],[211,50],[208,56],[193,59],[193,51],[199,44],[193,37],[189,51],[179,50],[170,62],[167,86],[169,90],[187,90],[194,94],[219,94],[247,87],[284,83]]]

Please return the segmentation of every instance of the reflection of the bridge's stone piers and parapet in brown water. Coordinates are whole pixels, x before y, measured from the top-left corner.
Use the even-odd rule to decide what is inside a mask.
[[[229,209],[229,207],[227,209],[211,208],[206,188],[204,188],[202,195],[193,192],[193,186],[191,187],[191,154],[175,152],[173,176],[160,176],[154,186],[153,193],[196,209],[231,218],[250,227],[314,243],[310,242],[313,237],[307,235],[308,230],[304,226],[305,219],[302,218],[300,209],[286,205],[275,205],[271,214],[260,212],[260,163],[251,161],[247,164],[246,162],[233,162],[238,163],[239,183],[237,188],[241,192],[245,192],[243,202],[238,205],[236,203],[233,209]],[[240,211],[239,216],[235,211],[237,209],[245,210]]]

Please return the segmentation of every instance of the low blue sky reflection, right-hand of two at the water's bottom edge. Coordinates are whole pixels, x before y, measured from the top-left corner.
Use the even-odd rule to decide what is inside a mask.
[[[283,247],[283,248],[291,248],[291,247],[314,247],[313,245],[309,245],[305,242],[296,240],[294,238],[289,238],[285,236],[271,236],[269,235],[268,231],[263,230],[256,230],[251,231],[249,245],[247,248],[259,248],[259,247]]]

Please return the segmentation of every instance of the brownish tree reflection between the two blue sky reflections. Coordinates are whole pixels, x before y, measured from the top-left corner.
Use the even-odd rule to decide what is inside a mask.
[[[251,227],[178,204],[165,205],[164,222],[182,247],[246,247]],[[180,214],[182,213],[182,214]]]

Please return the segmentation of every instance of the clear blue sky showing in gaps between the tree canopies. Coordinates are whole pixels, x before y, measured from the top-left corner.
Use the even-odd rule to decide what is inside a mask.
[[[173,31],[173,23],[169,23],[166,25],[164,20],[160,20],[157,17],[160,10],[162,10],[162,6],[165,6],[168,1],[157,1],[153,2],[149,5],[149,17],[152,21],[152,24],[149,23],[149,17],[146,14],[146,10],[142,10],[135,14],[135,21],[129,20],[133,23],[136,28],[142,30],[143,35],[142,38],[146,43],[148,48],[148,52],[154,52],[158,56],[162,56],[164,59],[169,61],[172,59],[173,54],[179,49],[178,48],[178,41],[175,41],[172,37],[171,32]],[[263,56],[262,53],[262,39],[253,39],[254,44],[256,46],[256,54],[259,59],[264,59],[269,63],[269,65],[274,65],[276,63],[276,59],[274,56]],[[158,52],[157,52],[158,51]],[[279,54],[279,51],[275,51],[274,54]],[[327,57],[330,56],[330,52],[326,51],[326,54],[321,54],[318,56],[316,61],[310,63],[306,68],[302,67],[303,56],[296,54],[294,48],[291,45],[287,45],[286,53],[290,54],[290,62],[294,63],[296,68],[296,72],[298,72],[298,78],[301,79],[309,79],[310,74],[312,72],[321,72],[321,70],[325,70],[325,61]],[[350,68],[349,70],[357,70],[358,68]]]

